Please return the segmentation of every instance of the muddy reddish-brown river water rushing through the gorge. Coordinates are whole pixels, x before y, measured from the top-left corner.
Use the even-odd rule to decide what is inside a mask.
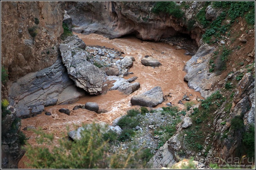
[[[59,139],[63,137],[62,132],[66,132],[67,125],[71,126],[70,129],[73,130],[75,128],[72,127],[73,124],[81,125],[82,123],[87,124],[92,122],[106,122],[111,124],[115,118],[126,114],[127,110],[138,108],[138,106],[131,105],[130,99],[132,96],[141,94],[155,86],[162,88],[164,96],[168,94],[172,96],[166,97],[166,100],[155,108],[166,106],[165,104],[167,102],[172,102],[174,106],[179,106],[183,109],[184,106],[178,104],[178,101],[182,99],[184,94],[192,94],[193,96],[189,97],[194,103],[197,103],[197,97],[202,99],[199,92],[188,88],[187,82],[183,81],[186,75],[186,72],[183,71],[183,67],[191,58],[191,56],[184,55],[184,50],[175,50],[174,46],[170,46],[166,43],[142,41],[135,37],[110,40],[97,34],[78,34],[78,36],[87,46],[106,46],[124,52],[123,57],[126,55],[133,56],[135,62],[129,71],[134,74],[124,78],[128,79],[132,76],[137,76],[138,79],[135,82],[139,82],[141,87],[130,95],[124,95],[117,90],[113,90],[98,96],[87,95],[73,104],[45,107],[45,111],[51,112],[52,116],[40,114],[33,118],[22,119],[22,129],[29,125],[42,127],[47,133],[52,133],[56,139]],[[162,65],[156,68],[142,65],[141,59],[145,55],[158,59]],[[78,109],[71,111],[70,116],[58,112],[60,108],[72,110],[74,106],[85,104],[88,101],[98,103],[100,109],[106,109],[109,112],[97,114],[85,109]],[[35,146],[36,135],[34,132],[24,131],[24,133],[27,137],[30,137],[28,143]],[[24,165],[25,161],[28,160],[24,156],[19,162],[19,168],[28,168]]]

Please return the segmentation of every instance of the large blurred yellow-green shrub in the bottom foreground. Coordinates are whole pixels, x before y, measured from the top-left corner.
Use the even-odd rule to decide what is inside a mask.
[[[28,166],[36,169],[133,169],[143,168],[135,154],[138,151],[127,150],[126,155],[109,153],[109,144],[102,138],[97,125],[82,131],[81,140],[68,141],[60,139],[56,145],[53,135],[35,131],[36,147],[28,145],[26,156],[30,160]],[[39,142],[41,141],[41,142]],[[40,145],[41,144],[41,145]],[[46,145],[51,145],[49,150]],[[120,159],[120,156],[122,159]]]

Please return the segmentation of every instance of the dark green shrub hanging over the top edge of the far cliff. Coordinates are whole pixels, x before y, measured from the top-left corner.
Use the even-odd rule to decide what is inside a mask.
[[[160,12],[167,13],[176,18],[181,18],[183,16],[183,11],[178,5],[173,1],[158,1],[152,8],[152,12],[159,14]]]

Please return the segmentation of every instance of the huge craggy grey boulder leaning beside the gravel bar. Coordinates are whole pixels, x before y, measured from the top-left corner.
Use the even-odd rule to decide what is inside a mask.
[[[62,62],[65,64],[69,77],[75,85],[89,94],[99,94],[102,91],[102,71],[89,63],[89,53],[72,44],[61,44]]]

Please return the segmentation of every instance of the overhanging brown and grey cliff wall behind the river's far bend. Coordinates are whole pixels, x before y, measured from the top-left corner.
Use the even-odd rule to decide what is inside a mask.
[[[125,35],[135,35],[142,40],[159,41],[172,35],[189,34],[199,43],[203,29],[195,23],[188,31],[187,21],[168,15],[151,12],[154,2],[67,2],[68,14],[72,17],[73,28],[78,33],[99,33],[111,39]],[[179,5],[179,4],[178,4]],[[201,4],[197,4],[200,9]],[[195,8],[185,13],[191,18]]]

